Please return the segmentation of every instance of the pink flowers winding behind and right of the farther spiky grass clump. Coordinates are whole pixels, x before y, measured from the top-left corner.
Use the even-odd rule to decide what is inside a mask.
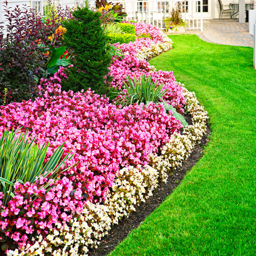
[[[145,74],[146,77],[152,76],[155,82],[163,84],[163,90],[167,90],[164,100],[172,104],[180,113],[184,112],[185,98],[182,93],[182,88],[175,82],[173,72],[167,71],[154,71],[150,72],[150,63],[146,60],[141,60],[136,57],[138,50],[142,47],[150,48],[154,42],[162,40],[162,34],[158,29],[149,24],[135,23],[136,35],[142,33],[152,33],[154,38],[137,38],[134,42],[129,44],[115,44],[115,47],[119,48],[124,57],[113,57],[111,66],[109,68],[109,75],[113,77],[111,86],[121,89],[122,84],[126,81],[126,77],[133,76],[141,77]]]

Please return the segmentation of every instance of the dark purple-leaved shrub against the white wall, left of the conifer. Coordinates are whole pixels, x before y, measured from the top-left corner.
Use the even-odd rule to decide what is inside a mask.
[[[35,98],[38,79],[47,76],[45,64],[48,59],[48,37],[55,32],[61,20],[71,17],[68,9],[56,8],[50,19],[42,17],[29,8],[8,8],[6,11],[6,36],[0,26],[0,105]],[[57,42],[57,45],[59,41]]]

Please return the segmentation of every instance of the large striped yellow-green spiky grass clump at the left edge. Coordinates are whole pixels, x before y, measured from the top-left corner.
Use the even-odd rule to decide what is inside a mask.
[[[40,177],[56,180],[60,167],[68,159],[69,154],[59,162],[63,154],[62,144],[45,163],[49,142],[42,146],[34,142],[35,138],[30,141],[27,132],[20,133],[19,130],[5,131],[0,138],[0,190],[5,206],[14,197],[15,182],[33,183]],[[44,188],[48,186],[45,184]]]

